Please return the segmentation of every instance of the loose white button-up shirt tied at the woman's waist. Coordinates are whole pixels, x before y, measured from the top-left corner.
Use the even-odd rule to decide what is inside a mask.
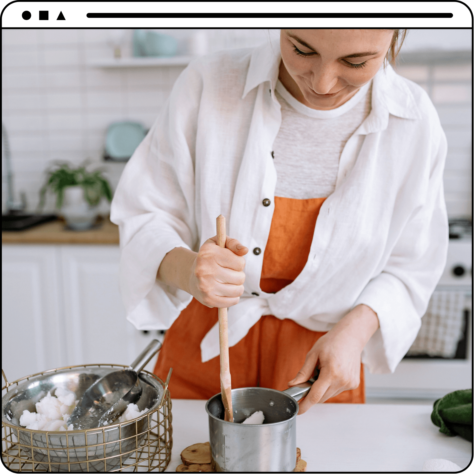
[[[328,331],[364,303],[380,328],[362,361],[372,373],[393,372],[446,263],[446,137],[427,93],[382,67],[371,113],[342,151],[306,265],[291,284],[265,293],[259,283],[274,209],[280,60],[276,42],[193,60],[130,158],[111,207],[127,319],[137,329],[173,324],[192,297],[158,282],[158,267],[175,247],[198,251],[223,214],[227,234],[249,248],[244,294],[228,309],[229,346],[264,314]],[[201,342],[201,358],[218,355],[216,323]]]

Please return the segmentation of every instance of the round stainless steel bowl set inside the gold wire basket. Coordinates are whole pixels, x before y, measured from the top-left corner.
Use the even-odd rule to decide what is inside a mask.
[[[20,380],[17,386],[9,384],[11,388],[2,397],[2,425],[10,428],[11,441],[19,445],[20,457],[26,455],[35,464],[35,470],[50,472],[104,472],[120,468],[137,452],[152,424],[156,424],[156,416],[153,420],[152,416],[159,411],[164,387],[152,374],[139,375],[143,393],[137,406],[140,411],[148,411],[137,419],[74,431],[36,431],[19,426],[23,410],[36,411],[35,403],[48,391],[53,395],[57,387],[63,387],[80,399],[93,382],[117,369],[118,366],[110,365],[76,366],[32,376],[23,383]],[[160,443],[161,439],[158,449]]]

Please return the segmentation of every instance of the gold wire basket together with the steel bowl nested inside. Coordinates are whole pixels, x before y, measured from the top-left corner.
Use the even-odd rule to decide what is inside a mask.
[[[171,398],[155,374],[140,374],[143,392],[130,421],[73,431],[37,431],[19,426],[23,410],[48,391],[63,386],[76,398],[98,378],[125,365],[73,365],[29,375],[2,387],[2,460],[15,472],[147,472],[164,471],[171,459]]]

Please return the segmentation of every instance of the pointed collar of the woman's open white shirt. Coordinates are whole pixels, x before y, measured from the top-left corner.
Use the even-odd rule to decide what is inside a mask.
[[[266,81],[270,82],[273,93],[278,81],[281,58],[279,38],[273,38],[254,48],[250,56],[242,99],[249,91]],[[372,86],[372,111],[357,133],[366,135],[384,130],[388,126],[389,115],[412,120],[421,118],[405,79],[396,74],[391,65],[381,67],[375,74]]]

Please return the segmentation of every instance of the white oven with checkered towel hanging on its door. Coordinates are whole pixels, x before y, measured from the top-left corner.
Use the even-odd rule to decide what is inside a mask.
[[[446,267],[421,319],[420,337],[393,374],[365,370],[368,399],[435,400],[472,386],[471,220],[450,219],[449,237]],[[455,349],[446,356],[456,331]]]

